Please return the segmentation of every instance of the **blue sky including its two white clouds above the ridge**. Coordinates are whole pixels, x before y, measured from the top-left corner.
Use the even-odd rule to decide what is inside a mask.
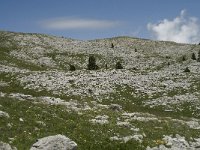
[[[199,6],[200,0],[1,0],[0,30],[195,43],[200,41]]]

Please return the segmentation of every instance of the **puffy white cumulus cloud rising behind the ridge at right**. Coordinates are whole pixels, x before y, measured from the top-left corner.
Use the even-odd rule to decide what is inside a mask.
[[[157,24],[148,23],[147,29],[155,39],[178,43],[199,43],[200,24],[197,18],[188,17],[182,10],[173,20],[164,19]]]

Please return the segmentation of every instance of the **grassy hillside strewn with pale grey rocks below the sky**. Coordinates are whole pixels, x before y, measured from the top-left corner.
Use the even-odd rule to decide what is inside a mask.
[[[130,37],[0,32],[0,141],[29,149],[62,134],[80,150],[200,149],[199,51]],[[87,70],[89,56],[98,70]]]

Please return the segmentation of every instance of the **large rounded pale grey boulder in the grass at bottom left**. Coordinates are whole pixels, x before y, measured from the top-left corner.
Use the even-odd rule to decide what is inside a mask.
[[[39,139],[30,150],[77,150],[77,144],[64,135],[54,135]]]

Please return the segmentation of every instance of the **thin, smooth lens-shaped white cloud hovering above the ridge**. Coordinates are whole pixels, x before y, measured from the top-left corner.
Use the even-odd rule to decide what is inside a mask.
[[[118,26],[120,23],[110,20],[80,19],[80,18],[55,18],[41,22],[47,29],[105,29]]]

